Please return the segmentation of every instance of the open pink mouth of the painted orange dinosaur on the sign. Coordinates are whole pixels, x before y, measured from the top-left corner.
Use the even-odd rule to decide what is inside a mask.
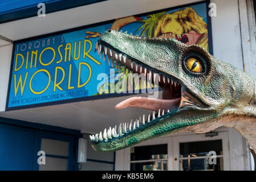
[[[178,41],[186,45],[192,45],[192,44],[196,44],[197,40],[201,36],[202,34],[198,34],[196,31],[191,30],[184,34],[173,34],[172,32],[160,33],[158,38],[173,38],[173,39],[177,39]]]

